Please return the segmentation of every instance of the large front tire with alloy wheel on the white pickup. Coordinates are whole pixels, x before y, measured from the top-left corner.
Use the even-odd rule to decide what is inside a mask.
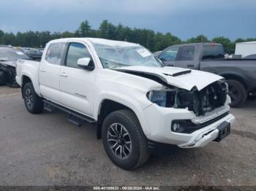
[[[112,112],[105,118],[102,141],[110,160],[125,170],[138,168],[148,160],[146,136],[137,117],[128,109]]]

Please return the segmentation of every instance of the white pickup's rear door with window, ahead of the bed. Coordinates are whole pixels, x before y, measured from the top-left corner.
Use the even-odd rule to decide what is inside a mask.
[[[59,74],[65,42],[53,42],[48,46],[45,58],[39,66],[39,88],[43,97],[59,102]]]

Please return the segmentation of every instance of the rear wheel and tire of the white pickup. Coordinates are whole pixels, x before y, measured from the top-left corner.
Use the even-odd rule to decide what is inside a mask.
[[[31,114],[39,114],[43,109],[42,98],[40,98],[34,91],[34,86],[31,82],[28,82],[23,87],[23,98],[26,109]]]

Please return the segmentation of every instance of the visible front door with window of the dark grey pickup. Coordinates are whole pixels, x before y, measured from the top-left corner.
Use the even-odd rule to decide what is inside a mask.
[[[165,66],[175,66],[178,50],[179,47],[168,47],[162,51],[158,58]]]

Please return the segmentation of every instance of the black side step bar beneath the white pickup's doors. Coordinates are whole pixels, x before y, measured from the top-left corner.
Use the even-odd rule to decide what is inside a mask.
[[[59,104],[55,104],[52,101],[44,99],[43,102],[45,104],[47,104],[47,105],[53,106],[53,107],[55,107],[57,109],[60,109],[60,110],[62,110],[64,112],[67,112],[69,114],[68,121],[72,122],[74,125],[77,125],[78,127],[84,125],[84,123],[86,123],[86,122],[90,122],[90,123],[96,122],[91,117],[88,117],[86,115],[80,114],[78,112],[74,112],[71,109],[68,109],[67,107],[61,106]],[[47,108],[47,106],[45,108]],[[51,109],[45,109],[45,110],[49,111]]]

